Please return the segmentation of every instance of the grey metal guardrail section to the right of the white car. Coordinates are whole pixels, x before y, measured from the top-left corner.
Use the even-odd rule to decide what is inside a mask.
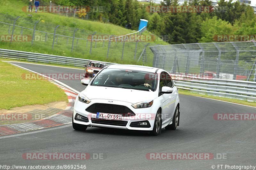
[[[170,74],[175,86],[200,94],[256,102],[256,82]]]

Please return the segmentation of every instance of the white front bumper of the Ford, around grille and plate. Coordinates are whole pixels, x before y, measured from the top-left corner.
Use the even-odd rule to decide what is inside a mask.
[[[105,99],[92,99],[89,104],[80,102],[76,99],[75,105],[74,105],[74,113],[73,113],[73,121],[77,124],[83,124],[87,126],[94,126],[94,127],[104,127],[104,128],[116,128],[116,129],[130,129],[130,130],[153,130],[155,117],[156,117],[156,110],[154,110],[154,107],[148,107],[148,108],[139,108],[135,109],[132,107],[132,103],[124,102],[124,101],[117,101],[117,100],[111,100],[111,104],[115,105],[122,105],[126,106],[129,109],[132,110],[133,113],[135,113],[134,116],[128,116],[128,117],[122,117],[122,121],[109,121],[109,120],[102,120],[102,119],[96,119],[96,114],[87,112],[85,109],[89,106],[91,106],[94,103],[106,103],[109,104],[109,100]],[[88,118],[88,122],[78,121],[75,120],[75,115],[79,114],[84,117]],[[148,121],[150,126],[146,125],[140,125],[136,126],[137,122],[144,122]],[[133,123],[132,123],[133,122]],[[134,123],[136,122],[136,123]],[[118,124],[118,125],[117,125]],[[133,126],[133,127],[131,127]],[[146,128],[145,128],[146,126]]]

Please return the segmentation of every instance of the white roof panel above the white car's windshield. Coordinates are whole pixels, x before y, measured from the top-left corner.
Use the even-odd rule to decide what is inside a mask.
[[[127,69],[127,70],[139,70],[155,73],[158,68],[142,66],[142,65],[130,65],[130,64],[112,64],[108,66],[108,69]]]

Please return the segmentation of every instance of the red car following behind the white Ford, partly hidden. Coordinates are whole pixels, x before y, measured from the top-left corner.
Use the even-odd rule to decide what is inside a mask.
[[[84,77],[93,78],[101,69],[107,66],[106,63],[98,61],[90,61],[84,68]]]

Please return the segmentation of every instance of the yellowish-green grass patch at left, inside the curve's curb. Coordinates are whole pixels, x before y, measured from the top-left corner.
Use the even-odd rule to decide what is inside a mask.
[[[47,80],[26,80],[22,74],[30,73],[0,61],[0,109],[26,105],[68,101],[62,89]]]

